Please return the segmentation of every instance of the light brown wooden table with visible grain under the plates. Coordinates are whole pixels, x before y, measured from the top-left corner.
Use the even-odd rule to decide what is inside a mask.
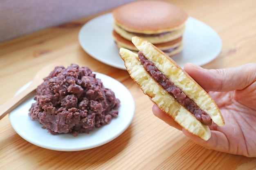
[[[168,0],[220,35],[222,51],[204,68],[256,62],[255,0]],[[119,137],[97,148],[63,152],[30,144],[0,120],[0,169],[247,169],[256,158],[207,150],[157,119],[152,103],[124,70],[88,55],[78,42],[81,26],[109,11],[74,20],[0,44],[0,104],[10,99],[43,66],[58,61],[89,66],[124,84],[135,99],[135,116]],[[100,50],[100,49],[99,49]],[[227,120],[228,121],[228,120]]]

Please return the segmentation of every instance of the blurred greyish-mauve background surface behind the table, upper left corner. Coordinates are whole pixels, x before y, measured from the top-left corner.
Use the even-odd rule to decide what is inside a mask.
[[[0,42],[135,0],[0,0]]]

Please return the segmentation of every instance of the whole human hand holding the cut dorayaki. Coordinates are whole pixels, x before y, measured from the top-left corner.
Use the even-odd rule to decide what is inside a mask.
[[[195,79],[218,105],[225,126],[209,126],[211,138],[204,141],[182,129],[155,104],[153,113],[189,137],[196,144],[211,150],[247,157],[256,157],[256,63],[235,68],[207,70],[186,64],[184,70]]]

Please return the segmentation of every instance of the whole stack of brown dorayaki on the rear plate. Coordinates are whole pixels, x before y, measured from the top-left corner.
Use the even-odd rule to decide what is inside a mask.
[[[112,16],[112,35],[118,48],[137,51],[131,40],[138,36],[169,56],[182,51],[188,14],[179,7],[163,1],[136,1],[114,9]]]

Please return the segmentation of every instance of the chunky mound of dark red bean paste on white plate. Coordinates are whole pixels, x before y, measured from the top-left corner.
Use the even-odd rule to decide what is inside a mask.
[[[95,76],[76,64],[56,67],[36,89],[29,116],[53,135],[77,136],[110,124],[118,116],[120,101]]]

